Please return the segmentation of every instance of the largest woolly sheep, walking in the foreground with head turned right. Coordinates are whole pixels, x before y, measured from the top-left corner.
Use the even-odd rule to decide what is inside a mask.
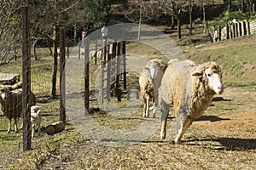
[[[222,72],[217,63],[195,65],[191,60],[169,61],[159,90],[160,139],[166,139],[169,105],[176,112],[175,143],[179,144],[186,129],[207,110],[213,96],[223,92]]]

